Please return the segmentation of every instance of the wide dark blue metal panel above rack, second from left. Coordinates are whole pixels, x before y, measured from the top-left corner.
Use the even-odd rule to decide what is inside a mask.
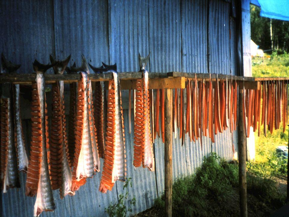
[[[70,64],[81,64],[83,54],[93,66],[109,62],[107,1],[54,0],[56,58],[71,54]]]

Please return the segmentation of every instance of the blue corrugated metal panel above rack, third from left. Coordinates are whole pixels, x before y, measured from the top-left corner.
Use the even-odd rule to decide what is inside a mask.
[[[148,0],[110,0],[109,10],[110,63],[121,72],[138,71],[138,53],[149,53]]]

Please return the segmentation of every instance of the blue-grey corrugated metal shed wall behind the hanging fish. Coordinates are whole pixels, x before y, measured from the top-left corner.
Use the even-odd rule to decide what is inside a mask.
[[[70,64],[73,61],[80,64],[80,55],[84,54],[95,66],[101,65],[101,61],[116,62],[118,71],[138,71],[138,52],[141,55],[150,52],[148,71],[151,72],[236,74],[236,30],[234,17],[230,14],[232,2],[0,1],[0,51],[9,60],[22,64],[21,73],[31,73],[35,58],[48,63],[49,54],[56,58],[72,54]],[[69,92],[66,96],[69,96]],[[127,91],[123,91],[123,96],[127,98]],[[29,100],[21,98],[21,103],[26,105],[21,112],[29,118]],[[124,105],[124,108],[127,106]],[[128,112],[128,109],[124,110],[127,177],[133,180],[129,200],[136,197],[132,213],[138,213],[153,206],[154,199],[163,193],[164,144],[161,139],[155,140],[155,172],[135,168],[132,165],[133,131],[132,134],[128,133]],[[130,124],[133,125],[133,120]],[[26,126],[26,140],[29,141],[30,121],[23,121],[23,125]],[[199,140],[190,142],[187,135],[184,146],[179,139],[173,139],[174,179],[193,174],[203,157],[212,151],[232,159],[232,143],[237,149],[237,134],[232,135],[227,130],[216,138],[217,142],[211,144],[210,139],[203,137],[203,149]],[[35,197],[25,196],[23,186],[26,175],[21,174],[20,178],[20,189],[2,193],[2,216],[33,214]],[[56,210],[41,215],[105,215],[104,208],[110,202],[116,202],[123,192],[123,183],[117,182],[111,192],[102,194],[98,191],[100,178],[101,173],[98,173],[88,179],[74,197],[67,196],[60,200],[58,191],[54,191]]]

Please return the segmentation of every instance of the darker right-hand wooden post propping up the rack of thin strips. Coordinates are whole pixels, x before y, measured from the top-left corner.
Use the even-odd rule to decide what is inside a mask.
[[[239,90],[238,158],[240,216],[247,217],[246,134],[243,121],[243,90]]]

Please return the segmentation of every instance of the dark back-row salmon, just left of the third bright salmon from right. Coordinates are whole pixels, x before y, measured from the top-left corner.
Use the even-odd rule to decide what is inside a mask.
[[[65,68],[67,74],[76,74],[76,64],[73,63],[70,68]],[[75,149],[75,127],[76,127],[76,102],[77,102],[77,82],[69,84],[70,89],[70,100],[69,100],[69,119],[68,119],[68,153],[69,153],[69,166],[73,166],[74,149]]]

